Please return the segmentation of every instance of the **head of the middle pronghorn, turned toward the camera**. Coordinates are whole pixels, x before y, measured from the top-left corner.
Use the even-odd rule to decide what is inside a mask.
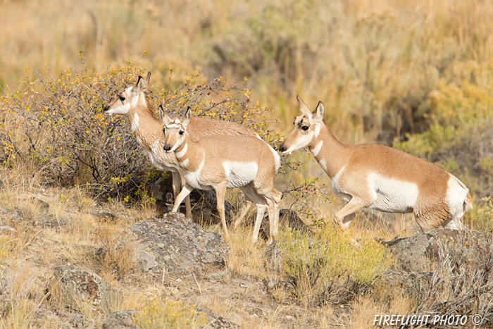
[[[164,146],[163,149],[166,153],[171,153],[180,147],[185,141],[185,135],[187,135],[187,125],[192,119],[192,108],[190,106],[185,112],[183,119],[174,118],[171,119],[168,114],[164,113],[163,107],[159,106],[159,113],[163,118],[163,133],[164,133]]]

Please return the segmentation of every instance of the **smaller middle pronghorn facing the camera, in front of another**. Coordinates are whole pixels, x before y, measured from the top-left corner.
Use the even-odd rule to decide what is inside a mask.
[[[277,237],[281,192],[275,190],[273,178],[280,166],[277,152],[260,138],[242,136],[211,136],[194,141],[188,126],[192,111],[187,109],[182,120],[163,116],[164,150],[176,156],[185,186],[173,206],[176,211],[194,188],[216,190],[218,213],[223,225],[224,237],[227,227],[224,216],[226,189],[239,187],[244,194],[244,204],[235,221],[235,228],[246,215],[250,204],[257,207],[253,242],[258,240],[258,230],[263,215],[268,211],[270,236],[268,243]]]

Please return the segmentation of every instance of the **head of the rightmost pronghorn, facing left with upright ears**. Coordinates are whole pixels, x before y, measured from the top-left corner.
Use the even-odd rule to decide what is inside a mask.
[[[312,113],[299,96],[297,99],[302,114],[294,118],[294,129],[279,148],[283,154],[291,154],[292,151],[308,146],[320,134],[320,125],[323,123],[325,108],[321,101]]]

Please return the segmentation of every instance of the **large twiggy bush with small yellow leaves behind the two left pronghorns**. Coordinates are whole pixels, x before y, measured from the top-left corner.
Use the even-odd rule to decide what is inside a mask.
[[[149,197],[146,183],[159,174],[151,170],[127,119],[102,111],[143,71],[127,63],[90,74],[82,54],[80,58],[74,70],[59,77],[33,71],[17,91],[1,97],[0,159],[6,166],[30,163],[44,180],[84,185],[99,199]],[[176,89],[160,85],[151,103],[163,103],[173,113],[192,106],[196,116],[249,125],[273,142],[266,128],[268,108],[252,104],[249,89],[242,83],[226,87],[223,78],[195,82],[198,77],[194,74]]]

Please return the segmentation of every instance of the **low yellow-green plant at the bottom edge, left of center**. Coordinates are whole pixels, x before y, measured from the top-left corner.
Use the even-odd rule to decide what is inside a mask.
[[[135,325],[143,329],[194,329],[208,323],[203,313],[197,312],[189,304],[158,299],[147,300],[140,313],[135,316]]]

